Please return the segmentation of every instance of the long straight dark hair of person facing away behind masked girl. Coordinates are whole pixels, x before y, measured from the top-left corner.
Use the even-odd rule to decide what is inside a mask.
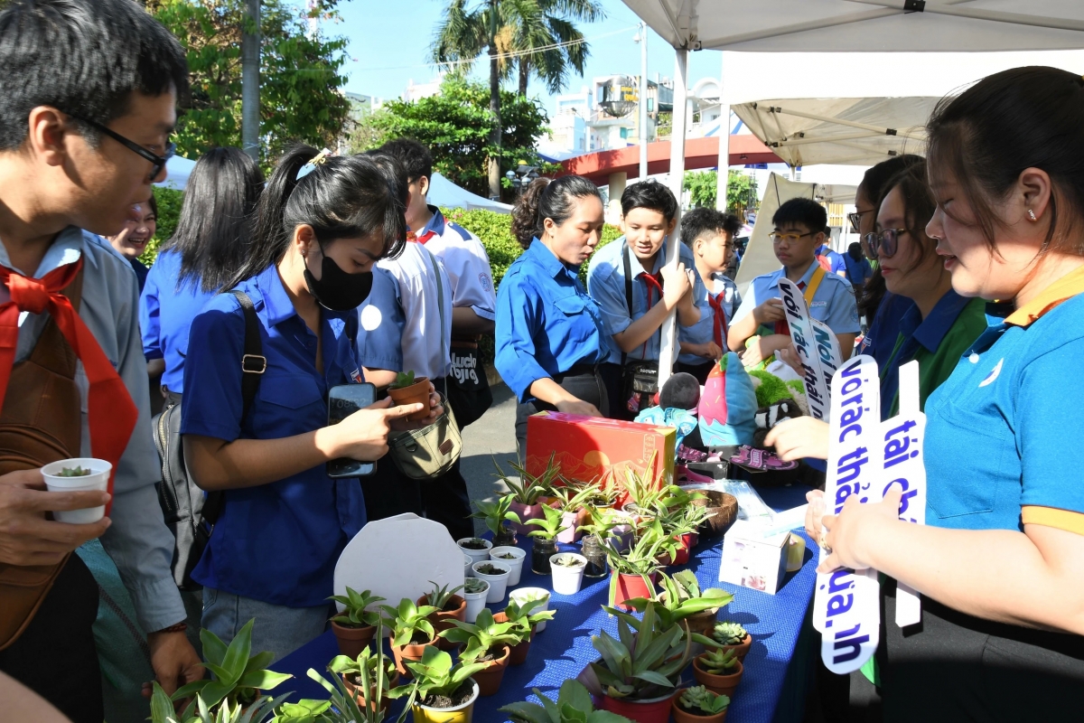
[[[263,173],[241,149],[214,149],[199,157],[177,230],[163,246],[181,255],[178,291],[191,282],[217,292],[233,279],[248,256],[253,212],[262,190]]]

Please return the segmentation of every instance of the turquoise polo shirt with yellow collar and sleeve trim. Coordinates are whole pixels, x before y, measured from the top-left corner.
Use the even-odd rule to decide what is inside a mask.
[[[990,318],[927,399],[927,525],[1022,530],[1021,508],[1024,517],[1029,507],[1084,513],[1084,385],[1075,374],[1084,273],[1070,276],[1076,295],[1053,309],[1040,299],[1033,315]]]

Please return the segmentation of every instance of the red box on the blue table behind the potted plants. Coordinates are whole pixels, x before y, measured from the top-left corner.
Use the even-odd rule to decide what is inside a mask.
[[[654,455],[656,479],[669,485],[674,477],[678,430],[653,424],[636,424],[580,414],[539,412],[527,418],[528,474],[540,475],[554,454],[568,479],[590,482],[615,476],[623,480],[625,469],[647,470]]]

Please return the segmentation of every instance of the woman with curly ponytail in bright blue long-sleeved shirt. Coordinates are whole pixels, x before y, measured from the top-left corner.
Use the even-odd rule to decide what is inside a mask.
[[[496,293],[496,358],[516,392],[516,441],[526,460],[527,417],[542,410],[605,416],[598,364],[609,352],[598,305],[577,271],[602,237],[598,189],[579,176],[540,178],[516,204],[512,233],[526,250]]]

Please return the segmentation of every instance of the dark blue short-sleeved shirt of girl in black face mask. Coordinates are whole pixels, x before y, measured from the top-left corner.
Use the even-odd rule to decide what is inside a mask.
[[[354,311],[322,310],[324,372],[317,335],[305,325],[270,267],[237,286],[260,320],[267,371],[241,418],[245,320],[233,295],[211,299],[192,322],[181,434],[225,441],[281,439],[327,424],[330,387],[360,382],[351,338]],[[192,578],[254,599],[326,605],[339,553],[365,524],[357,479],[333,480],[319,465],[270,485],[225,491],[225,506]]]

